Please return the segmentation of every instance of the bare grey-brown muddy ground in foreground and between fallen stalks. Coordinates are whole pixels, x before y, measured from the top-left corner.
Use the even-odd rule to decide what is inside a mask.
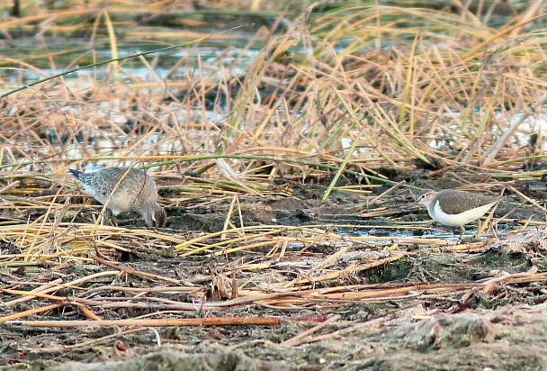
[[[247,225],[274,222],[287,225],[335,222],[411,225],[413,221],[419,221],[423,223],[419,224],[423,229],[405,231],[401,227],[397,233],[432,233],[425,222],[428,220],[426,212],[408,203],[410,194],[407,191],[395,192],[382,204],[392,213],[379,218],[362,218],[361,213],[378,205],[365,204],[357,195],[335,195],[329,201],[321,202],[318,199],[320,192],[309,193],[310,189],[306,188],[306,195],[295,193],[292,197],[242,195],[239,201],[245,212],[244,221]],[[179,207],[168,210],[166,231],[180,234],[222,229],[228,201],[207,208],[189,206],[184,210]],[[544,215],[531,207],[518,207],[515,201],[501,205],[496,216],[505,215],[507,209],[513,210],[511,217],[515,221],[500,225],[506,230],[498,232],[498,237],[489,235],[488,243],[485,242],[487,237],[483,237],[480,249],[445,252],[439,247],[434,253],[431,249],[420,253],[423,247],[419,244],[399,246],[399,249],[414,251],[414,255],[315,287],[419,287],[393,300],[310,301],[292,306],[256,302],[201,311],[197,303],[199,298],[191,294],[175,297],[168,293],[158,294],[181,303],[196,303],[193,312],[164,312],[162,318],[248,316],[282,321],[274,326],[86,326],[68,329],[35,328],[8,322],[0,324],[0,364],[6,370],[543,370],[547,365],[547,276],[542,272],[545,270],[547,233],[543,227],[534,226],[518,233],[513,231],[522,225],[518,220],[541,221]],[[81,215],[84,220],[88,217],[86,213]],[[118,222],[123,226],[141,227],[142,221],[134,217],[125,215]],[[237,221],[235,218],[234,222]],[[450,229],[444,230],[447,236],[451,235]],[[383,230],[376,232],[379,235],[386,233]],[[451,238],[444,246],[456,243]],[[7,248],[4,246],[4,249]],[[292,249],[298,252],[302,248]],[[363,254],[390,254],[384,245],[355,245],[354,249]],[[253,250],[254,254],[266,252]],[[323,247],[307,253],[327,256],[333,251]],[[245,258],[246,254],[248,252],[227,258],[235,261]],[[211,263],[215,261],[210,257],[180,258],[168,253],[162,258],[150,257],[139,253],[130,254],[130,257],[117,256],[120,262],[140,272],[182,279],[189,285],[211,285]],[[342,258],[337,264],[347,262]],[[38,267],[37,273],[43,274],[49,268],[47,265]],[[75,263],[58,275],[85,276],[109,269],[100,264]],[[30,279],[25,272],[19,271],[17,275],[16,271],[13,267],[3,269],[4,287],[11,286],[17,279]],[[485,280],[490,280],[491,285],[484,285]],[[121,282],[136,287],[146,285],[147,279],[128,275]],[[108,281],[99,280],[93,283],[108,284]],[[438,294],[435,285],[454,285],[460,289]],[[431,287],[431,291],[424,287]],[[462,290],[462,287],[466,288]],[[68,297],[70,293],[67,289],[57,294]],[[4,293],[2,301],[5,303],[16,297],[16,294]],[[44,298],[36,298],[0,308],[5,316],[40,307],[46,302]],[[94,308],[94,311],[103,319],[131,319],[153,313],[154,309]],[[65,306],[62,310],[42,312],[22,320],[85,319],[76,308]],[[313,329],[327,319],[329,322],[323,328]],[[313,330],[309,334],[304,334],[310,329]],[[297,337],[299,334],[305,336]]]

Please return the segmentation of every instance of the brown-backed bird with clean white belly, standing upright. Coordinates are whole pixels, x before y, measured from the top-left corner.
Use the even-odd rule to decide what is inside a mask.
[[[417,196],[417,204],[426,206],[427,213],[435,222],[451,227],[460,227],[462,239],[463,226],[479,219],[501,200],[487,195],[476,195],[471,192],[445,189],[435,192],[426,189]]]

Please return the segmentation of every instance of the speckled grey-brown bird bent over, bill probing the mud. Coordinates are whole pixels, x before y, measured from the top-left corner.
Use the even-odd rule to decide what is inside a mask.
[[[156,182],[143,170],[134,167],[105,167],[93,173],[68,169],[84,185],[85,191],[114,216],[123,212],[139,213],[148,227],[166,224],[166,210],[157,204]]]

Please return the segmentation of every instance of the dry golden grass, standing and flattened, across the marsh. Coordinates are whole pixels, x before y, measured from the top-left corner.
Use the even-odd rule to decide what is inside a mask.
[[[311,179],[325,185],[325,200],[358,195],[363,217],[389,218],[382,203],[412,185],[383,174],[386,168],[408,174],[435,168],[429,176],[457,170],[461,177],[454,177],[469,188],[485,187],[474,184],[477,178],[497,189],[515,185],[516,172],[541,178],[542,167],[522,170],[545,158],[543,140],[527,141],[541,137],[547,85],[545,30],[528,29],[533,22],[525,14],[493,29],[465,12],[354,7],[303,14],[282,35],[261,29],[247,48],[215,59],[203,60],[202,47],[193,46],[165,77],[157,73],[160,56],[152,55],[81,68],[77,78],[60,76],[14,93],[4,87],[2,300],[8,308],[36,299],[41,306],[0,321],[63,307],[91,321],[110,319],[94,313],[97,308],[129,308],[131,321],[144,308],[159,318],[248,303],[289,311],[462,298],[492,293],[495,285],[543,282],[544,274],[532,271],[496,282],[363,285],[360,272],[417,254],[483,252],[492,241],[446,247],[443,239],[355,237],[338,231],[370,226],[336,222],[247,225],[240,204],[248,197],[295,197],[275,181]],[[110,37],[111,45],[117,42]],[[258,41],[265,44],[256,53]],[[97,60],[89,51],[68,68],[84,56]],[[58,71],[55,56],[49,59]],[[46,77],[27,60],[0,59],[7,62]],[[247,66],[243,74],[241,66]],[[13,90],[25,84],[22,75],[6,82]],[[229,204],[224,228],[150,231],[77,222],[79,192],[67,168],[85,163],[149,167],[171,210]],[[378,185],[392,188],[371,195]],[[195,276],[117,262],[129,253],[142,261],[168,259]],[[183,294],[199,304],[173,299]],[[184,324],[175,322],[165,324]]]

